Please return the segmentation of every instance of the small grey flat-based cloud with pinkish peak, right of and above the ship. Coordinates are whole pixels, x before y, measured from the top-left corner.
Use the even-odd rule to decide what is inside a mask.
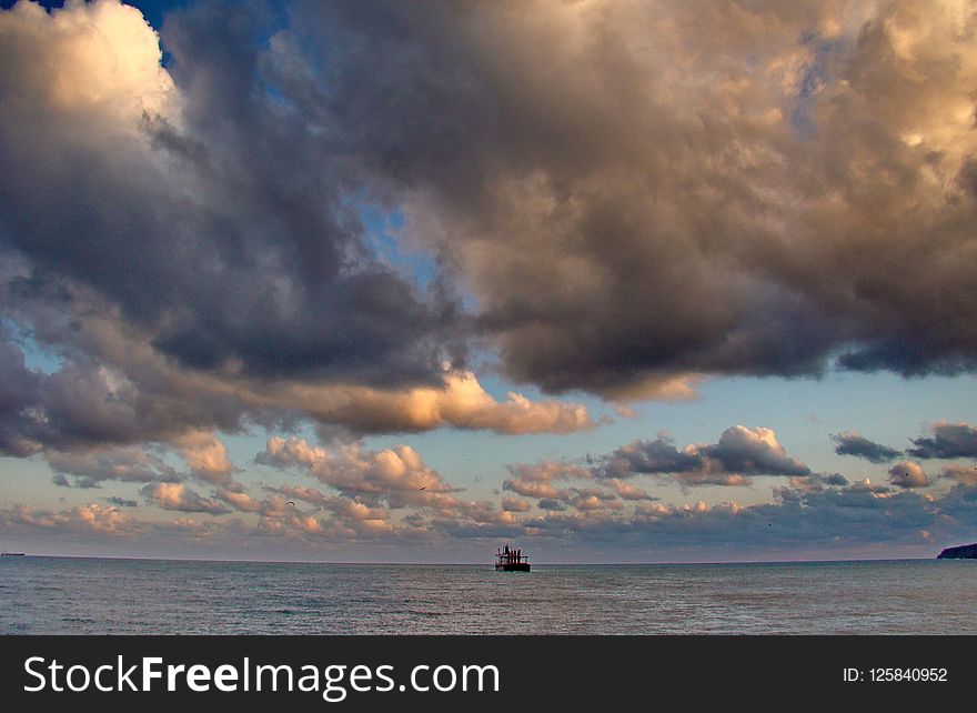
[[[717,443],[689,444],[681,451],[663,435],[633,441],[601,461],[595,472],[603,478],[668,474],[686,485],[746,485],[746,475],[810,473],[807,465],[787,455],[772,429],[743,425],[723,431]]]

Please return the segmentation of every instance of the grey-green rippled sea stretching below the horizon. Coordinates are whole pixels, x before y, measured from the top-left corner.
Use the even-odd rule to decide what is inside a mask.
[[[0,633],[977,634],[977,561],[334,565],[0,558]]]

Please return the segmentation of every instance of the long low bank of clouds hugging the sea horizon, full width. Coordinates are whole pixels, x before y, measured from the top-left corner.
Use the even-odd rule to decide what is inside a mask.
[[[272,499],[270,499],[272,500]],[[582,501],[583,502],[583,501]],[[612,501],[613,502],[613,501]],[[620,502],[620,501],[618,501]],[[735,552],[784,556],[798,552],[822,554],[938,551],[938,542],[957,542],[977,526],[977,491],[957,484],[945,493],[920,494],[913,489],[893,492],[872,483],[809,491],[780,488],[774,502],[743,505],[726,501],[708,505],[638,502],[633,508],[571,508],[541,501],[540,513],[522,519],[491,505],[471,504],[473,516],[414,513],[400,520],[391,511],[343,496],[330,498],[323,516],[269,510],[256,520],[204,519],[135,521],[118,508],[98,504],[61,511],[14,505],[0,510],[0,524],[11,536],[57,541],[66,535],[124,539],[160,546],[191,542],[225,548],[231,543],[262,542],[288,552],[321,552],[323,546],[348,548],[352,542],[437,546],[459,540],[518,538],[533,552],[554,553],[574,548],[576,556],[596,553],[637,560],[675,556],[715,558]],[[249,518],[252,518],[249,515]],[[138,535],[138,540],[134,536]],[[532,543],[528,544],[528,543]],[[303,548],[296,550],[296,546]],[[480,545],[482,546],[482,545]]]

